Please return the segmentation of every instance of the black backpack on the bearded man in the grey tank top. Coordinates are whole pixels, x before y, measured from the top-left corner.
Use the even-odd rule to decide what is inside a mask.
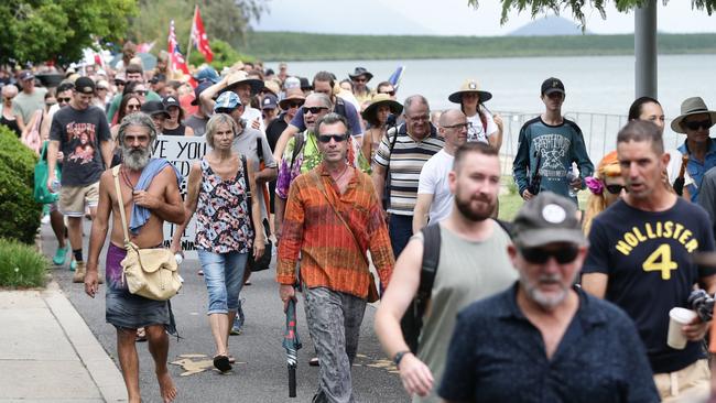
[[[512,237],[512,225],[507,221],[496,219],[497,224]],[[408,306],[403,318],[400,320],[400,327],[403,331],[403,338],[413,353],[417,353],[417,339],[423,328],[423,316],[425,308],[433,293],[435,274],[440,264],[441,235],[440,225],[431,224],[423,227],[423,263],[420,270],[420,284],[415,297]]]

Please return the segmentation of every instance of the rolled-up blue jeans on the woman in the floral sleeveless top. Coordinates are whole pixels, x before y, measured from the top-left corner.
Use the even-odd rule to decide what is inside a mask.
[[[236,312],[239,308],[239,293],[243,286],[243,271],[249,254],[199,250],[198,255],[209,294],[208,315]]]

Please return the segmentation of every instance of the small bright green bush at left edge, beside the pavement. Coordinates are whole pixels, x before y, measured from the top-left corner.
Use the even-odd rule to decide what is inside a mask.
[[[0,286],[44,286],[47,260],[34,247],[0,239]]]

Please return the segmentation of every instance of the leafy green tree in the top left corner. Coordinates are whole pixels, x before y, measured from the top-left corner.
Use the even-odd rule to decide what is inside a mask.
[[[135,0],[0,1],[0,64],[79,61],[96,41],[122,39]]]

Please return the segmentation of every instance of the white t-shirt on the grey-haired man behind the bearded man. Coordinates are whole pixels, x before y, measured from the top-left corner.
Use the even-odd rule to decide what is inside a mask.
[[[441,150],[427,160],[420,172],[417,194],[433,195],[433,203],[430,205],[431,224],[446,218],[453,210],[453,194],[447,183],[453,161],[453,155]]]

